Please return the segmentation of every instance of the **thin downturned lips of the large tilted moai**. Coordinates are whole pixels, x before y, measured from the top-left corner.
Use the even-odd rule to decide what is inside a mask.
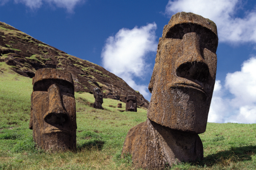
[[[172,84],[169,87],[170,88],[186,87],[190,89],[195,89],[195,90],[201,91],[205,96],[207,96],[207,92],[203,88],[203,85],[198,85],[197,83],[192,82],[189,79],[182,79],[182,80],[178,79],[175,82],[172,82]]]

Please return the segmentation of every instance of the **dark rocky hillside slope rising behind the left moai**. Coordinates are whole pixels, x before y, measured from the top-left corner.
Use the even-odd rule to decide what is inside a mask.
[[[12,66],[12,70],[25,77],[34,77],[40,68],[57,68],[69,71],[75,83],[75,91],[92,93],[102,89],[104,98],[126,101],[127,95],[137,96],[137,105],[148,108],[149,102],[134,91],[124,80],[99,65],[60,51],[35,38],[0,22],[0,62]]]

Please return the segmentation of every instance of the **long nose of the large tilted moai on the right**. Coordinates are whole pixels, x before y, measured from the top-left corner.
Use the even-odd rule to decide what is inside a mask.
[[[200,37],[195,32],[183,36],[183,55],[175,63],[178,77],[206,81],[209,68],[200,52]]]

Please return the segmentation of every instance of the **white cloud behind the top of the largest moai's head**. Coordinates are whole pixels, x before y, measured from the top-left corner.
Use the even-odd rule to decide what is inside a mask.
[[[214,21],[221,42],[256,42],[256,11],[246,11],[243,18],[234,17],[243,6],[241,0],[169,0],[166,14],[193,12]]]

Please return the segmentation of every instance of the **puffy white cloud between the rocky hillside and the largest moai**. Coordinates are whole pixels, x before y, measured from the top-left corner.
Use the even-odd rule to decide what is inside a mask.
[[[157,51],[156,29],[156,23],[131,30],[122,28],[108,37],[101,54],[103,67],[140,91],[145,98],[150,96],[148,85],[138,85],[134,78],[143,79],[145,74],[151,73],[146,57]]]

